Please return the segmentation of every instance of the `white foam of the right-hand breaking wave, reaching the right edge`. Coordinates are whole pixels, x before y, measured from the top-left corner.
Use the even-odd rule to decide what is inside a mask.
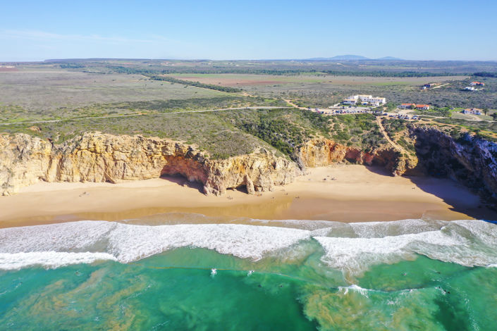
[[[370,266],[416,258],[416,254],[462,266],[497,263],[497,230],[477,220],[446,222],[440,230],[386,237],[314,237],[332,268],[357,275]],[[493,225],[491,225],[493,226]]]

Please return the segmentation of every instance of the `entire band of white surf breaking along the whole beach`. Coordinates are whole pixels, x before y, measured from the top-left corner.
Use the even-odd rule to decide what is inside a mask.
[[[375,223],[283,220],[242,224],[130,225],[79,221],[0,230],[0,269],[57,268],[101,260],[129,263],[179,247],[260,260],[295,254],[316,240],[326,266],[360,274],[382,263],[424,255],[462,266],[497,265],[497,226],[478,220],[399,220]],[[300,224],[300,225],[299,225]],[[268,223],[269,225],[269,223]],[[317,246],[317,245],[316,245]]]

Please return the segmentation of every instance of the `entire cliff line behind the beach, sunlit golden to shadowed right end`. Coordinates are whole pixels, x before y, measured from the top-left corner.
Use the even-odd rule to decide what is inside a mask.
[[[415,151],[382,146],[363,150],[329,139],[311,139],[293,156],[274,151],[214,160],[209,154],[168,139],[140,135],[85,133],[63,144],[30,135],[0,135],[0,194],[18,192],[39,180],[46,182],[120,182],[161,175],[183,175],[200,182],[205,194],[246,187],[247,193],[286,185],[305,167],[348,161],[384,166],[393,175],[426,174],[450,177],[497,197],[497,144],[474,135],[454,139],[436,126],[411,124],[403,133]]]

